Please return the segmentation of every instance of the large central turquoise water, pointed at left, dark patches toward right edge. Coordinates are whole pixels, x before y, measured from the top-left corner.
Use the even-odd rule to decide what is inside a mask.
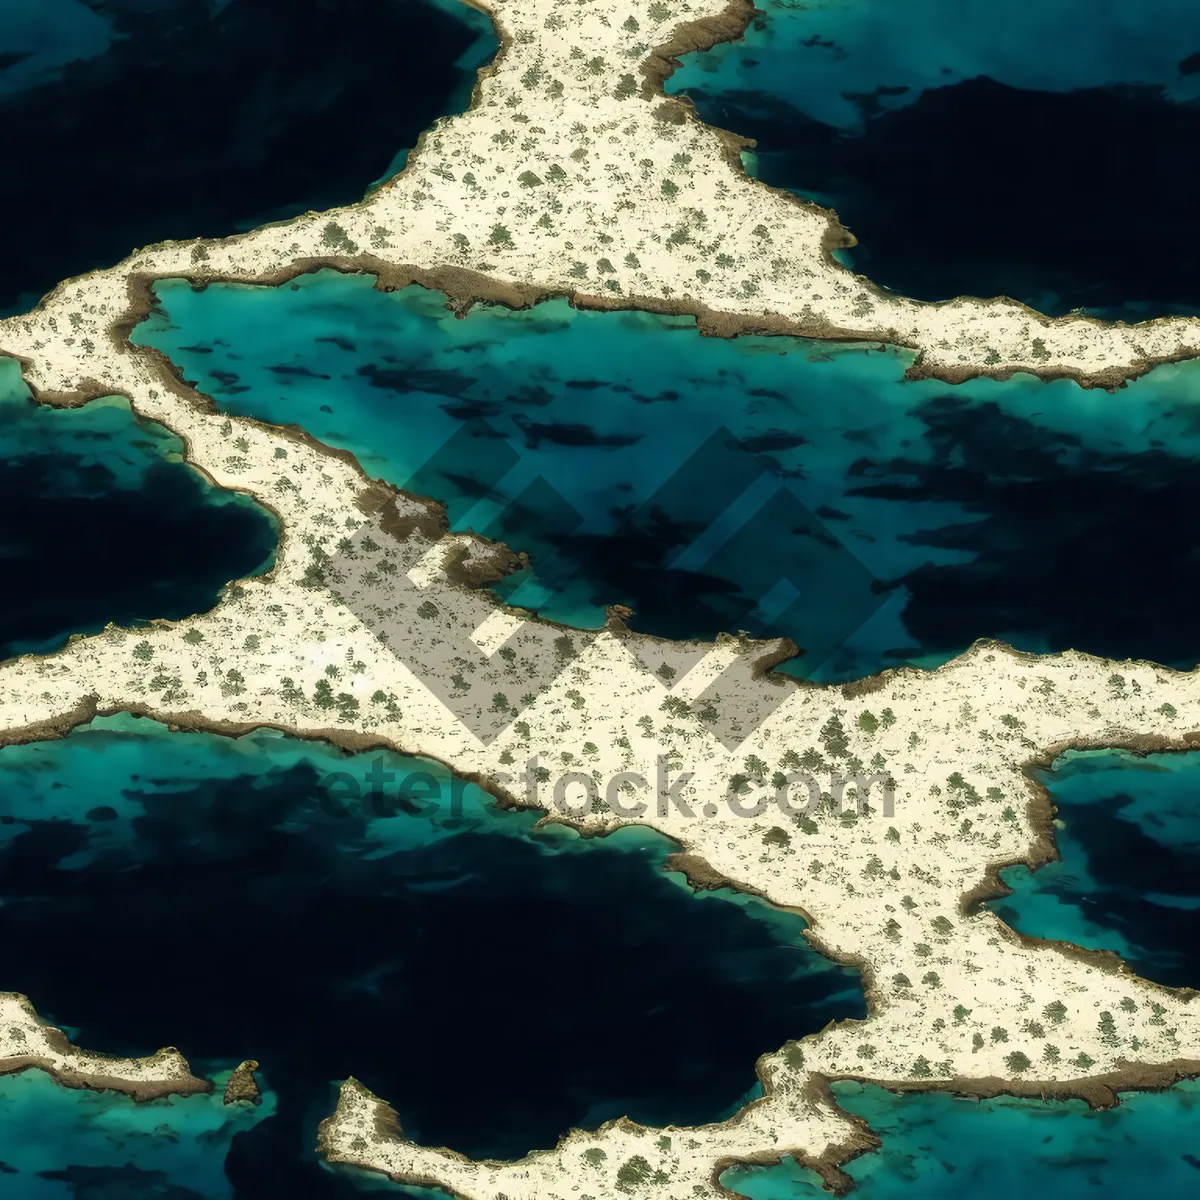
[[[1198,364],[1117,396],[950,388],[902,382],[894,349],[700,338],[562,301],[456,320],[372,283],[168,281],[136,340],[223,410],[301,425],[529,551],[499,590],[558,620],[620,602],[665,636],[786,634],[808,652],[788,670],[817,679],[983,636],[1200,658],[1200,563],[1175,533],[1200,503]],[[1121,545],[1156,570],[1114,570]]]

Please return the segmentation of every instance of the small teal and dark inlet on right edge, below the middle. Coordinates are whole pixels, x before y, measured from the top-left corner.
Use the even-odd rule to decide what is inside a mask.
[[[1140,974],[1200,983],[1200,754],[1068,751],[1039,779],[1062,860],[1003,872],[1015,929],[1114,950]]]

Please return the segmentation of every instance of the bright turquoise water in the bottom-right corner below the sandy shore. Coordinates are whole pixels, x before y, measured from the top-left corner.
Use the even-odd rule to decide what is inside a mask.
[[[1196,1115],[1200,1085],[1122,1098],[1106,1112],[1080,1100],[967,1100],[938,1094],[893,1096],[877,1087],[834,1084],[838,1103],[864,1117],[883,1140],[846,1168],[860,1200],[1082,1200],[1153,1194],[1186,1200],[1200,1187]],[[749,1200],[816,1200],[817,1176],[786,1160],[721,1176]]]

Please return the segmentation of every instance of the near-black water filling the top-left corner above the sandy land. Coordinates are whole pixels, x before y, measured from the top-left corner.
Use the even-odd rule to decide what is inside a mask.
[[[360,199],[498,44],[452,0],[6,0],[0,313],[155,241]]]

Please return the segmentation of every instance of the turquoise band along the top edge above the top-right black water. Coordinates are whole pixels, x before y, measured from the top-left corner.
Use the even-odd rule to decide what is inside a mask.
[[[862,131],[862,97],[881,86],[889,92],[876,103],[895,109],[978,76],[1032,91],[1121,80],[1200,98],[1200,73],[1180,70],[1200,50],[1192,0],[763,0],[761,10],[742,41],[685,55],[666,90],[784,96],[846,132]]]

